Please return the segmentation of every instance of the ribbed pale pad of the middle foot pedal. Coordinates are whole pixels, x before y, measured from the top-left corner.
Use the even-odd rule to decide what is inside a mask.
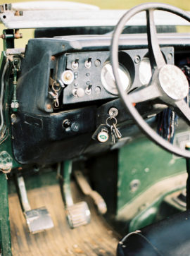
[[[91,214],[87,202],[77,202],[66,207],[66,214],[70,228],[77,228],[90,222]]]

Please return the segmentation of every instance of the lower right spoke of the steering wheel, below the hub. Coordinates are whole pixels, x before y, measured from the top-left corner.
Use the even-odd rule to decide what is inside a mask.
[[[190,108],[189,108],[189,104],[187,104],[184,101],[184,99],[182,99],[182,100],[179,100],[179,101],[175,102],[174,106],[175,106],[175,111],[177,112],[177,114],[182,116],[182,118],[185,121],[190,123]]]

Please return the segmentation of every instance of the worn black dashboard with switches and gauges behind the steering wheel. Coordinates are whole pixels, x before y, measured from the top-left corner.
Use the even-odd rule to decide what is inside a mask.
[[[18,79],[20,106],[12,123],[18,162],[54,163],[113,146],[110,139],[101,143],[93,136],[112,107],[118,109],[121,128],[131,120],[118,99],[110,39],[111,35],[83,35],[29,40]],[[182,41],[177,34],[158,39],[167,63],[174,63],[180,49],[189,48],[190,40]],[[146,85],[151,78],[146,35],[122,35],[118,54],[123,90],[129,93]],[[160,111],[146,102],[137,108],[144,117]]]

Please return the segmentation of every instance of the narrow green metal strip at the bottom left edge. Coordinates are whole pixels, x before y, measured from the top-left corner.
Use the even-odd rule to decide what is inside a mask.
[[[4,173],[0,173],[0,245],[2,256],[11,256],[11,233],[8,212],[8,188],[7,179]]]

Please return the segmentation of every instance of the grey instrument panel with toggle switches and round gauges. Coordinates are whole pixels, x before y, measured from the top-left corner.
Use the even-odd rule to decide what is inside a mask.
[[[163,47],[167,63],[173,63],[172,47]],[[65,54],[66,65],[59,61],[58,79],[64,84],[63,104],[91,102],[118,97],[115,78],[110,65],[109,51],[89,51]],[[120,78],[123,90],[129,92],[148,84],[151,66],[147,49],[130,49],[119,52]],[[64,77],[68,75],[69,80]]]

